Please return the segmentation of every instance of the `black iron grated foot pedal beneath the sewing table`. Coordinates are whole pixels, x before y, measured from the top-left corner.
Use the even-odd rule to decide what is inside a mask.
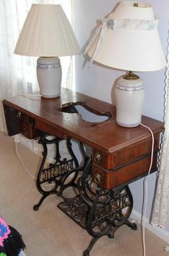
[[[69,218],[74,220],[81,228],[86,230],[86,216],[88,216],[89,206],[80,195],[60,202],[57,207],[65,212]]]

